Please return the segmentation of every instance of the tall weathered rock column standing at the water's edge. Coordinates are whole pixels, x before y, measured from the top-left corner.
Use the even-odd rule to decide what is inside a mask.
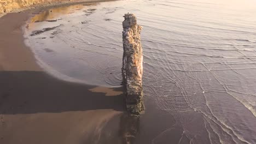
[[[131,116],[139,116],[144,111],[142,73],[143,54],[141,47],[142,27],[137,25],[133,14],[125,14],[123,21],[123,85],[125,102]]]

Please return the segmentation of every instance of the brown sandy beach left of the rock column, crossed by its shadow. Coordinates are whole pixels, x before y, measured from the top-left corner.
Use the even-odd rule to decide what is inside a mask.
[[[123,111],[122,88],[46,74],[22,37],[30,16],[10,13],[0,19],[0,143],[96,141],[109,119]]]

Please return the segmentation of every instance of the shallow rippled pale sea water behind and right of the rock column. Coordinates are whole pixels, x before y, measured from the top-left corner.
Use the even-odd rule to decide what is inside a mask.
[[[61,79],[120,86],[127,12],[143,26],[148,109],[137,143],[256,143],[256,1],[115,1],[51,9],[28,23],[26,43]],[[175,122],[168,123],[169,115]]]

